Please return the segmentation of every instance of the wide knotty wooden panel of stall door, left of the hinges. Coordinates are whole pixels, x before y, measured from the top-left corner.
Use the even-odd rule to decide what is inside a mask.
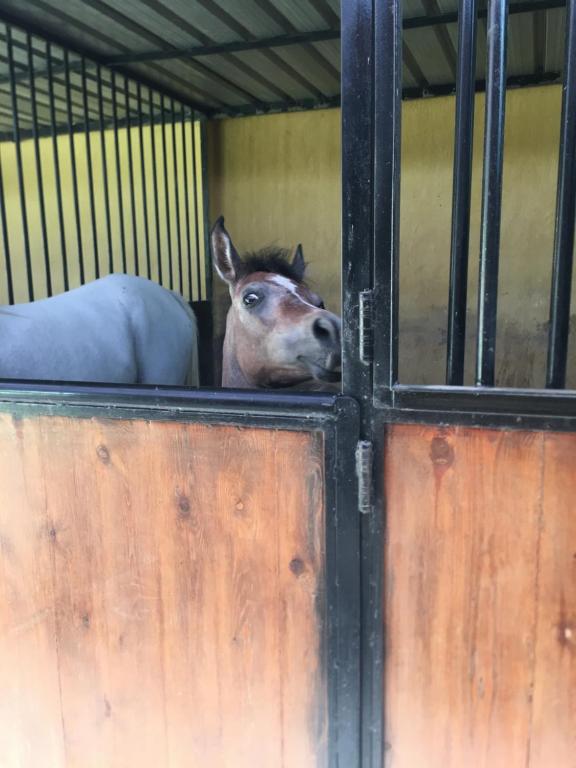
[[[2,768],[325,764],[315,433],[0,417]]]

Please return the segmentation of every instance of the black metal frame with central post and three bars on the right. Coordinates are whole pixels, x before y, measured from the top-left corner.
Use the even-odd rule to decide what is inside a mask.
[[[568,0],[556,242],[547,386],[563,386],[570,297],[558,286],[572,269],[576,178],[576,2]],[[494,343],[504,105],[507,0],[489,1],[486,139],[480,248],[477,385],[462,386],[478,6],[459,0],[458,87],[448,311],[447,385],[398,381],[401,0],[342,2],[343,391],[360,407],[371,449],[370,513],[362,518],[361,765],[380,768],[385,751],[383,552],[384,441],[392,423],[458,424],[576,432],[576,392],[496,388]],[[457,182],[457,183],[456,183]],[[569,282],[569,281],[568,281]]]

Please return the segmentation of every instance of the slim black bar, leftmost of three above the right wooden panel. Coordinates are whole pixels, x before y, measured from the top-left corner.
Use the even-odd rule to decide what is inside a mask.
[[[472,191],[474,86],[476,80],[476,21],[478,16],[476,2],[477,0],[460,0],[458,12],[452,241],[446,354],[446,383],[454,386],[464,383],[466,353],[466,304]]]

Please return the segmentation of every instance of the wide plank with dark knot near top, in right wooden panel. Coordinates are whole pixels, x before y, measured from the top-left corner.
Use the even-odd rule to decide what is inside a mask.
[[[389,766],[528,764],[542,453],[539,434],[390,428]]]

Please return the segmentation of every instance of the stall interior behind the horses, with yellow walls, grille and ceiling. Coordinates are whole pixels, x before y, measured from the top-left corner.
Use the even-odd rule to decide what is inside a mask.
[[[207,233],[223,214],[240,251],[302,243],[314,288],[340,311],[337,0],[1,0],[0,19],[1,303],[110,269],[148,271],[194,302],[203,383],[217,384],[227,296],[212,279]],[[440,384],[457,3],[407,0],[403,27],[400,380]],[[485,3],[478,30],[465,383],[476,334]],[[510,4],[501,386],[543,385],[563,46],[564,3]]]

